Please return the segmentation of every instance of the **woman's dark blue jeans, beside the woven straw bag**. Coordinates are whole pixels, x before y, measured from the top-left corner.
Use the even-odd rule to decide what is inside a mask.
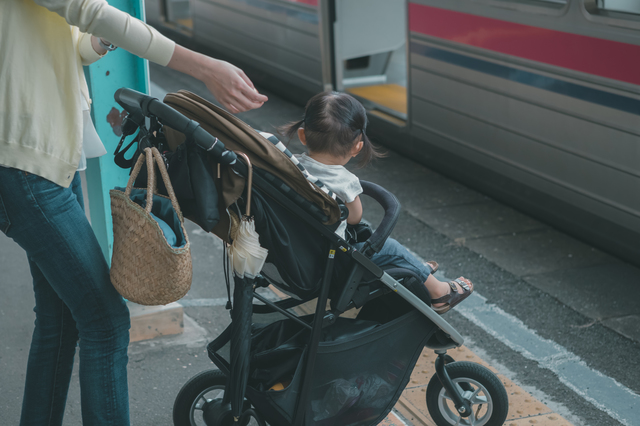
[[[27,252],[35,292],[20,425],[62,424],[78,340],[83,425],[129,425],[129,311],[85,216],[80,175],[63,188],[0,167],[0,231]]]

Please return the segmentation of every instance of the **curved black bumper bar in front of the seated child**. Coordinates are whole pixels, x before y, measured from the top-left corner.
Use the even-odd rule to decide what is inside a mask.
[[[362,193],[376,200],[384,209],[384,217],[380,225],[362,247],[362,252],[368,255],[369,250],[373,250],[376,253],[382,250],[382,246],[391,235],[391,231],[395,228],[400,217],[400,202],[395,195],[380,185],[364,180],[360,181],[360,185],[362,186]]]

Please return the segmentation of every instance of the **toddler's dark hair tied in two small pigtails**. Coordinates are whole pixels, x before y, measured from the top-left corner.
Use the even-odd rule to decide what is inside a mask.
[[[359,167],[382,156],[367,137],[367,111],[347,93],[318,93],[307,102],[304,118],[282,127],[280,132],[290,140],[300,127],[304,129],[310,151],[342,157],[348,155],[353,145],[362,140],[362,150],[358,154]]]

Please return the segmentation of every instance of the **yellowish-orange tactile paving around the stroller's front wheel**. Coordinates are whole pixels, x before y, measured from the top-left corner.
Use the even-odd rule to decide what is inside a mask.
[[[271,288],[279,297],[286,297],[284,293],[280,292],[273,286],[270,286],[269,288]],[[313,313],[315,310],[315,303],[313,301],[307,302],[304,305],[299,306],[296,310],[300,314]],[[357,312],[350,312],[350,314],[351,315],[348,316],[353,317]],[[509,413],[507,415],[505,426],[572,426],[571,422],[559,414],[554,413],[549,407],[538,401],[507,377],[500,374],[498,370],[487,364],[482,360],[482,358],[478,357],[467,347],[462,346],[460,348],[449,350],[447,353],[456,361],[469,361],[483,365],[498,376],[507,391],[507,395],[509,396]],[[434,363],[436,357],[437,355],[431,349],[425,348],[422,351],[422,354],[420,354],[420,357],[416,362],[416,366],[411,373],[411,378],[409,379],[407,388],[402,393],[400,400],[395,406],[395,409],[415,426],[437,426],[433,420],[431,420],[426,401],[427,385],[435,373]],[[380,424],[390,426],[402,425],[403,423],[395,416],[395,414],[391,413]]]

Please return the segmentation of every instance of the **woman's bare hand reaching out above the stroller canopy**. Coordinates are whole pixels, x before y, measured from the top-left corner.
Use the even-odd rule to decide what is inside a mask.
[[[240,68],[180,45],[176,45],[167,66],[202,81],[218,102],[234,114],[260,108],[268,100]]]

